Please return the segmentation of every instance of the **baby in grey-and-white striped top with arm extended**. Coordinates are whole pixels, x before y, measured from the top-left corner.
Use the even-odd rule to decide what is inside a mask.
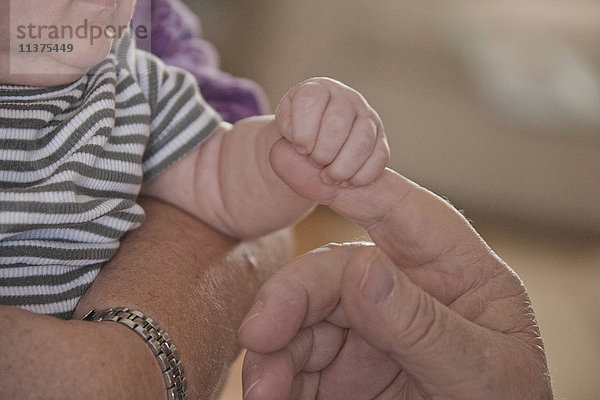
[[[309,79],[275,115],[230,125],[194,78],[135,48],[121,29],[134,0],[39,4],[0,0],[0,304],[68,318],[143,221],[140,193],[247,238],[387,163],[379,116],[337,81]]]

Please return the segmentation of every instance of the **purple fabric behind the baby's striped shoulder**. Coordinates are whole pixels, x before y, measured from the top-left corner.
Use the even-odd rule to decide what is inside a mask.
[[[147,21],[148,16],[151,21]],[[260,86],[219,70],[215,48],[201,39],[200,22],[185,4],[179,0],[138,1],[133,26],[140,25],[151,26],[151,48],[147,48],[147,43],[140,43],[139,47],[151,51],[165,64],[191,72],[202,96],[225,121],[233,123],[268,112]]]

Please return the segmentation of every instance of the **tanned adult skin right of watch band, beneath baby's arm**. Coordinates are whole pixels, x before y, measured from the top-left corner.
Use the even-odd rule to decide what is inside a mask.
[[[261,282],[290,257],[291,241],[280,232],[240,243],[166,204],[147,199],[144,208],[145,229],[125,239],[128,250],[94,282],[76,315],[118,305],[144,312],[180,350],[190,398],[210,398],[237,353],[243,313]]]

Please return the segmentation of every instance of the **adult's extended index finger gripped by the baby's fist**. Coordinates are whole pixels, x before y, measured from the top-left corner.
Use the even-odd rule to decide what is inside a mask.
[[[273,145],[270,157],[275,172],[295,192],[318,199],[364,227],[401,268],[443,259],[446,265],[457,267],[448,271],[449,276],[469,277],[464,268],[473,263],[467,261],[481,259],[490,251],[447,201],[389,168],[371,184],[344,188],[324,184],[319,176],[322,170],[283,139]]]

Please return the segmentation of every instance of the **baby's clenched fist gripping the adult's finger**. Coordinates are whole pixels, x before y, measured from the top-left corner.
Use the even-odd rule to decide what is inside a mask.
[[[296,152],[321,169],[326,185],[369,184],[389,159],[379,115],[360,93],[333,79],[312,78],[291,89],[275,119]]]

